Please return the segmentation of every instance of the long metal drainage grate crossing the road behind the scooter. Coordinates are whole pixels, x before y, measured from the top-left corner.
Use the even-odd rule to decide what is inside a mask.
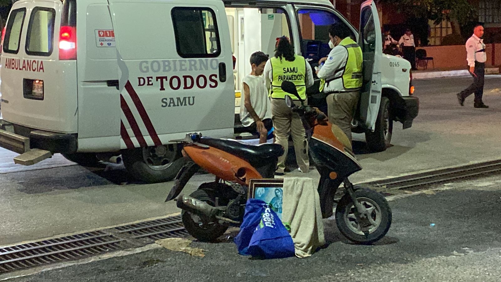
[[[384,196],[403,191],[420,191],[457,180],[501,175],[501,160],[361,183],[357,187],[376,189]],[[344,195],[339,189],[335,199]],[[74,260],[131,247],[158,239],[187,237],[180,216],[82,233],[67,237],[0,248],[0,273],[56,262]]]

